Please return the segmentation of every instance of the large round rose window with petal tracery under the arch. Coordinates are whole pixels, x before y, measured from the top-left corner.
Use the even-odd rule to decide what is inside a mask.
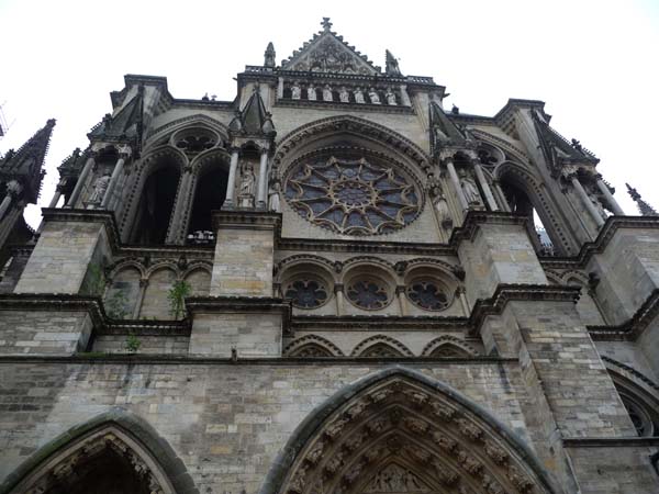
[[[289,175],[286,198],[303,217],[347,235],[393,232],[421,211],[409,179],[364,158],[299,166]]]

